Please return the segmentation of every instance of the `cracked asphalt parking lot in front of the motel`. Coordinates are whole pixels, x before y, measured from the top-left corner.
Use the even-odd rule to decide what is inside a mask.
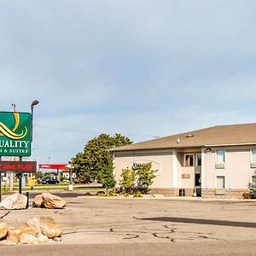
[[[63,229],[61,242],[2,246],[0,255],[255,255],[256,201],[66,200],[65,209],[29,208],[3,217],[18,225],[50,215]],[[6,212],[0,210],[0,216]]]

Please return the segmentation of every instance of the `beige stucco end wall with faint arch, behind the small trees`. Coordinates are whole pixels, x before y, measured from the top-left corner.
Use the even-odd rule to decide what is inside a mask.
[[[114,153],[114,175],[119,184],[122,169],[130,167],[133,163],[152,162],[152,169],[156,177],[151,188],[172,188],[172,150],[143,150],[143,151],[126,151]]]

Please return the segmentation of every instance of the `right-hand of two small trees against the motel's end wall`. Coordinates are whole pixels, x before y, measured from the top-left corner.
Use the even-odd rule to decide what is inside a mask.
[[[152,185],[155,177],[152,163],[136,164],[132,169],[137,173],[137,183],[142,186],[143,192],[148,194],[148,187]]]

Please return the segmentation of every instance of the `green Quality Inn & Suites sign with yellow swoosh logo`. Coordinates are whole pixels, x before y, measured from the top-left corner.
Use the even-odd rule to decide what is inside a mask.
[[[0,112],[0,156],[31,155],[31,113]]]

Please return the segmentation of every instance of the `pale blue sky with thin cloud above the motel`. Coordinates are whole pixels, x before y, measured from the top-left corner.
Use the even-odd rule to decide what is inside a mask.
[[[256,2],[0,2],[0,110],[34,111],[33,158],[256,121]]]

